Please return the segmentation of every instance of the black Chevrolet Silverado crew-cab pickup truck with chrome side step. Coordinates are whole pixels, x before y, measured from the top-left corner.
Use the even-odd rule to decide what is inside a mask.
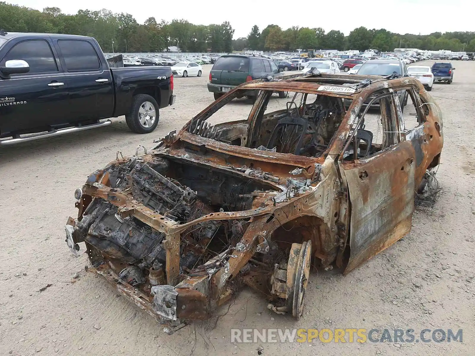
[[[174,101],[170,67],[110,68],[93,37],[0,31],[0,138],[9,138],[0,146],[121,115],[133,132],[149,133]]]

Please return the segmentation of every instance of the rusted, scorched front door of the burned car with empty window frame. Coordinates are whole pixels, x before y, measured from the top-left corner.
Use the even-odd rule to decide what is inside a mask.
[[[399,240],[411,227],[414,149],[409,141],[400,141],[398,98],[394,88],[381,92],[384,94],[373,98],[362,114],[357,115],[342,152],[352,142],[371,103],[376,100],[380,101],[381,122],[386,134],[383,150],[352,161],[343,160],[341,154],[337,161],[349,200],[347,237],[349,234],[350,258],[345,274]],[[390,99],[389,105],[381,100],[383,98]]]

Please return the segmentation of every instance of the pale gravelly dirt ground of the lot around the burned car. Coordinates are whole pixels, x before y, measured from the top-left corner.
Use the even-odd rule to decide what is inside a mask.
[[[210,66],[202,77],[175,79],[176,103],[161,110],[151,134],[133,134],[119,118],[0,149],[0,355],[257,355],[260,345],[263,355],[475,355],[475,62],[453,63],[454,82],[431,92],[444,114],[442,196],[415,212],[409,235],[349,275],[313,271],[299,321],[271,313],[266,300],[245,289],[220,310],[216,325],[194,323],[168,336],[85,272],[85,254],[77,259],[66,248],[76,187],[117,151],[151,147],[209,105]],[[215,120],[247,117],[249,109],[249,101],[238,100]],[[232,344],[230,328],[411,328],[416,338],[425,328],[462,328],[463,343]]]

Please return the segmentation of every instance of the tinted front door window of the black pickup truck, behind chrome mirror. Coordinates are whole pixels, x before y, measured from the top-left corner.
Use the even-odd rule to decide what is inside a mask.
[[[6,61],[12,59],[23,59],[28,62],[30,70],[24,75],[56,73],[58,71],[51,47],[43,39],[28,40],[16,44],[3,58],[1,65],[5,65]]]

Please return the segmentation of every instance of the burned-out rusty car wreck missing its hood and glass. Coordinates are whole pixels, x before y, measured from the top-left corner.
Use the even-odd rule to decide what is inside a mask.
[[[259,95],[247,120],[207,122],[248,90]],[[248,82],[92,173],[66,242],[84,242],[89,271],[164,325],[209,319],[243,285],[299,318],[311,264],[348,273],[409,232],[442,146],[440,109],[413,78]]]

